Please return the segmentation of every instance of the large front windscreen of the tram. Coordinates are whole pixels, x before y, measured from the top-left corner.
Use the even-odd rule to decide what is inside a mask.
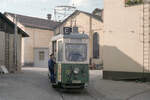
[[[66,44],[66,60],[67,61],[86,61],[87,45],[86,44]]]

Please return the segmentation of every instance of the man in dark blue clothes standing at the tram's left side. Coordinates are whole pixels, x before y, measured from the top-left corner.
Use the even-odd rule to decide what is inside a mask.
[[[49,68],[49,72],[50,72],[50,79],[51,82],[54,83],[55,82],[55,78],[54,78],[54,65],[56,64],[54,59],[54,54],[50,55],[50,59],[48,60],[48,68]]]

